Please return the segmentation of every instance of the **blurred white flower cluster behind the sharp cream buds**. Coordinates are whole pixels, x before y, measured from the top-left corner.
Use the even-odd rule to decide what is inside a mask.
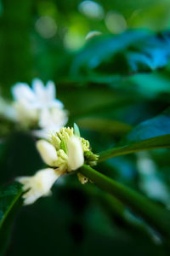
[[[12,89],[16,121],[26,128],[37,127],[33,131],[37,137],[48,137],[48,131],[59,131],[68,121],[68,113],[63,103],[55,99],[54,82],[44,86],[40,79],[34,79],[32,88],[28,84],[17,83]]]

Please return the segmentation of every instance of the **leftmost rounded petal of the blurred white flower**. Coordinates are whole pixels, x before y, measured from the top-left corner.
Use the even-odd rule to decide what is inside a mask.
[[[33,102],[35,101],[35,95],[28,84],[18,83],[12,88],[12,94],[15,101],[19,102]]]

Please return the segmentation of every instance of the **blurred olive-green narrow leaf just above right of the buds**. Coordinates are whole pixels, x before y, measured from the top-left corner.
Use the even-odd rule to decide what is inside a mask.
[[[100,131],[115,135],[126,134],[132,129],[131,125],[127,125],[120,121],[93,117],[77,119],[77,124],[82,129],[89,129],[92,131]]]

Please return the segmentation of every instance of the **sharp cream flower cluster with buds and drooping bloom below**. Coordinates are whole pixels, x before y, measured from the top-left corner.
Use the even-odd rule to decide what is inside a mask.
[[[94,154],[87,140],[80,137],[77,125],[74,128],[61,128],[52,133],[49,140],[37,141],[37,150],[42,160],[49,166],[33,177],[18,177],[17,180],[24,184],[24,189],[29,189],[25,197],[25,204],[31,204],[41,196],[50,194],[50,189],[57,178],[65,173],[76,171],[84,163],[94,166],[98,155]],[[81,183],[88,182],[88,178],[78,173]]]

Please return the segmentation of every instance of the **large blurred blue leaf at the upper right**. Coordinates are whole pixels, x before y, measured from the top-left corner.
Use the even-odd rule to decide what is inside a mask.
[[[168,32],[132,30],[116,36],[92,38],[71,66],[72,75],[141,72],[163,67],[170,56]]]

